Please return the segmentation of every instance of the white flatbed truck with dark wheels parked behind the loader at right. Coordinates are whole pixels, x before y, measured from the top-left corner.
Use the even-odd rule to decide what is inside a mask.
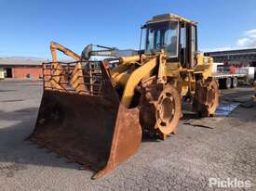
[[[239,82],[253,83],[254,67],[242,67],[236,69],[236,72],[231,71],[224,67],[223,63],[213,63],[212,73],[213,78],[216,79],[220,88],[229,89],[236,88]]]

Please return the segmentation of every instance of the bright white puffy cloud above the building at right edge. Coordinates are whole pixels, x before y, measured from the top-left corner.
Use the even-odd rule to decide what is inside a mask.
[[[256,29],[246,31],[244,36],[244,38],[237,40],[236,45],[238,45],[239,48],[256,47]]]

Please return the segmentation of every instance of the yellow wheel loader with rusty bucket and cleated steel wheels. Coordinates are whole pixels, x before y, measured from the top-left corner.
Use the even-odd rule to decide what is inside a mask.
[[[44,94],[29,138],[99,178],[134,155],[142,132],[163,140],[175,134],[182,97],[190,98],[198,115],[213,115],[218,83],[211,77],[212,57],[197,52],[196,23],[165,14],[142,29],[144,49],[127,57],[92,45],[78,56],[52,43],[53,61],[43,64]],[[75,61],[58,61],[56,50]]]

